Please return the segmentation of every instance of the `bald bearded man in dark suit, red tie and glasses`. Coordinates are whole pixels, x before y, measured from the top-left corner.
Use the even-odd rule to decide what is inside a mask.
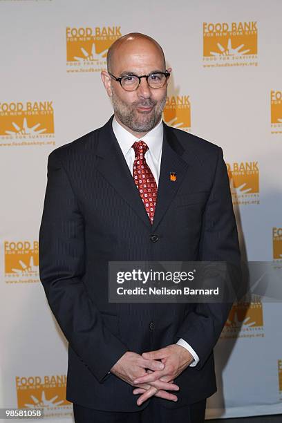
[[[230,305],[108,299],[109,261],[240,261],[222,149],[162,122],[170,74],[151,37],[115,41],[114,115],[48,157],[39,269],[76,423],[200,423],[216,392]]]

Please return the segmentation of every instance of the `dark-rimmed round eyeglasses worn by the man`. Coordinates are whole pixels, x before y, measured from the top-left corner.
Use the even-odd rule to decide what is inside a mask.
[[[138,86],[141,83],[141,78],[146,78],[147,84],[151,88],[162,88],[164,86],[165,82],[167,81],[167,78],[169,77],[170,73],[165,72],[153,72],[149,73],[149,75],[141,75],[137,76],[134,74],[131,75],[124,75],[122,77],[115,77],[115,75],[112,75],[109,72],[109,75],[111,75],[112,78],[115,79],[115,81],[120,82],[120,85],[124,90],[126,91],[135,91],[137,90]]]

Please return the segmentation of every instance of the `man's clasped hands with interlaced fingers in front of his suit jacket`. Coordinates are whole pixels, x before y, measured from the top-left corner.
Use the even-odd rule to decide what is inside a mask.
[[[137,400],[138,406],[153,395],[176,402],[178,397],[167,391],[179,391],[173,381],[193,359],[189,351],[178,344],[142,355],[127,351],[111,368],[111,373],[134,386],[134,395],[142,394]]]

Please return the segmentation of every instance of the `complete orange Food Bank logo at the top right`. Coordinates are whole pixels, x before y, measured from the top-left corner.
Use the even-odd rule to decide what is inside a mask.
[[[256,21],[203,23],[205,67],[256,66],[257,53]]]

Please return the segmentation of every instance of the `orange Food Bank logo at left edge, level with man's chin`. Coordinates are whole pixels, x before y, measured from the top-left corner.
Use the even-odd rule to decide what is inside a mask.
[[[53,138],[53,102],[0,102],[0,138]]]

